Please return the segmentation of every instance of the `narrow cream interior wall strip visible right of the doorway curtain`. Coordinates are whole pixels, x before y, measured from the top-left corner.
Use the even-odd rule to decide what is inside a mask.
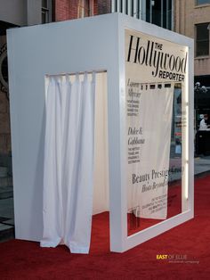
[[[109,156],[107,74],[97,73],[95,86],[95,133],[93,215],[109,211]]]

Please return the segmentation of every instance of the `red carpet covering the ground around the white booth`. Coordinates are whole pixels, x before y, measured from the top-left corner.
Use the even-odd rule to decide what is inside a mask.
[[[195,186],[195,218],[125,253],[109,252],[108,215],[93,218],[89,255],[73,255],[65,246],[0,243],[0,279],[209,279],[210,176]],[[103,226],[101,226],[101,223]],[[176,263],[157,259],[174,255]]]

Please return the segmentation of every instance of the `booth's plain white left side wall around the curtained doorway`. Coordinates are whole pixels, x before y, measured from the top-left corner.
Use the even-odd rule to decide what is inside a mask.
[[[42,236],[45,74],[108,71],[110,208],[120,196],[117,19],[109,14],[8,31],[16,238]],[[113,215],[116,226],[121,220]]]

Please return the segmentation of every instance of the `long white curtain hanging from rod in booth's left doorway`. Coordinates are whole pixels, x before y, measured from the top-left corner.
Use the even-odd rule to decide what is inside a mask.
[[[91,76],[91,77],[90,77]],[[93,213],[95,73],[51,77],[46,96],[42,247],[88,253]]]

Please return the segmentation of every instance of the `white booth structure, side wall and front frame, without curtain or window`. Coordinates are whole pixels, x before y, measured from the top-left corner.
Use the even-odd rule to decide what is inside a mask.
[[[125,29],[189,47],[188,205],[182,213],[127,236],[125,141]],[[16,238],[40,241],[43,230],[44,76],[107,70],[110,250],[122,252],[193,218],[193,40],[112,13],[7,32],[11,95]],[[185,190],[186,191],[186,190]]]

